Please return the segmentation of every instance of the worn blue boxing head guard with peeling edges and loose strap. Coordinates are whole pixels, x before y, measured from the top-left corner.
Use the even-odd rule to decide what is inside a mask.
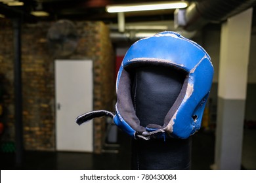
[[[165,68],[163,72],[160,72],[160,75],[165,75],[165,73],[169,75],[175,71],[182,73],[183,78],[181,90],[177,93],[172,105],[165,111],[162,122],[142,125],[141,120],[145,118],[143,115],[142,117],[140,115],[140,118],[137,115],[137,93],[132,92],[132,90],[139,90],[140,87],[137,84],[139,76],[134,76],[134,70],[138,67],[143,69],[148,65],[151,65],[153,70],[154,68]],[[135,80],[136,84],[133,84]],[[89,112],[77,117],[77,124],[105,115],[111,116],[119,128],[135,139],[150,139],[152,137],[186,139],[200,129],[212,80],[213,65],[209,55],[200,45],[178,33],[161,32],[153,37],[135,42],[125,54],[116,81],[116,114],[106,110]],[[152,79],[148,79],[146,83],[160,85],[154,90],[161,90],[161,92],[171,90],[168,88],[169,86],[161,87],[161,80],[152,82]],[[166,83],[168,85],[168,82]],[[147,88],[147,84],[140,87],[141,90],[144,90],[140,92],[140,97],[150,95],[147,93],[148,89],[144,89]],[[158,103],[156,105],[160,106],[161,102],[171,99],[171,96],[168,97],[168,95],[164,97],[158,94],[153,95],[153,98],[160,98],[160,102],[156,102]],[[147,111],[150,112],[144,110],[143,113]]]

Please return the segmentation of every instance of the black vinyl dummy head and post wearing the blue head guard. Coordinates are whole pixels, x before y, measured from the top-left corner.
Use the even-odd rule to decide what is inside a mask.
[[[184,73],[160,65],[143,65],[133,70],[131,95],[140,125],[163,126],[185,79]],[[133,169],[190,169],[191,139],[132,141]]]

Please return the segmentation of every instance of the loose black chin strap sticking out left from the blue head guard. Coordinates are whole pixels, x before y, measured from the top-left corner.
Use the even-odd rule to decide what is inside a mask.
[[[92,120],[93,118],[98,118],[102,116],[108,116],[112,119],[114,118],[114,114],[112,112],[109,112],[108,110],[94,110],[92,112],[87,112],[85,114],[78,116],[75,122],[81,125],[85,122],[88,122],[89,120]]]

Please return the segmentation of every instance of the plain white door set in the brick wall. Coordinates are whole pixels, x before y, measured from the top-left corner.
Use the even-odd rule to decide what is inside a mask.
[[[56,60],[56,150],[93,152],[93,123],[77,116],[93,110],[93,61]]]

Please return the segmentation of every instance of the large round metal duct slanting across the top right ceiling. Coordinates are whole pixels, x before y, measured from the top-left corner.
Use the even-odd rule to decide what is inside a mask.
[[[223,22],[247,8],[254,7],[256,0],[204,0],[191,3],[186,10],[175,14],[176,27],[196,31],[211,22]]]

